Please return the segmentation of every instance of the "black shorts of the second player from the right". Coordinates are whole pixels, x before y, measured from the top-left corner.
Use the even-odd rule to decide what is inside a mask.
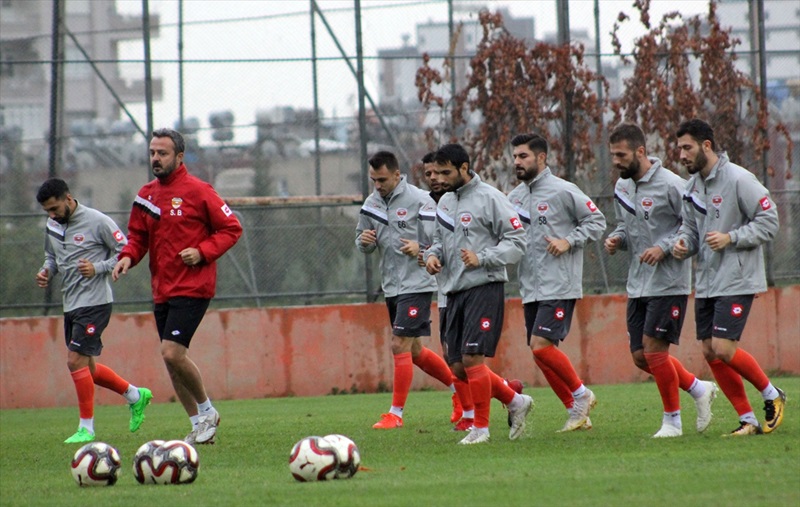
[[[644,336],[677,345],[688,299],[686,295],[628,299],[628,342],[631,352],[644,349]]]

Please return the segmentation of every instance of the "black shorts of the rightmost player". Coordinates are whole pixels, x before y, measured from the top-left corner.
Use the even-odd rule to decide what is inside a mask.
[[[742,337],[753,294],[743,296],[720,296],[696,298],[694,300],[697,339],[725,338],[738,341]]]

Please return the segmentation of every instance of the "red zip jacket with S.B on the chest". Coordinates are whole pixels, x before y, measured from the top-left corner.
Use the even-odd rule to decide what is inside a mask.
[[[128,244],[120,259],[132,266],[150,252],[153,300],[188,296],[211,299],[217,285],[216,260],[236,244],[242,226],[214,188],[181,164],[164,180],[139,190],[128,221]],[[180,252],[197,248],[203,261],[187,266]]]

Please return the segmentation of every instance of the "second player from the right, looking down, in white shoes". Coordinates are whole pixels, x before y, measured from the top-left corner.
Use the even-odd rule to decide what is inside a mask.
[[[647,156],[644,132],[622,124],[609,137],[611,161],[619,171],[614,188],[617,227],[605,240],[609,255],[627,250],[628,338],[633,363],[653,375],[664,405],[661,429],[653,437],[683,434],[678,387],[697,406],[697,431],[711,423],[717,395],[713,382],[698,380],[669,353],[678,344],[691,291],[691,264],[671,255],[670,241],[681,225],[686,182]]]

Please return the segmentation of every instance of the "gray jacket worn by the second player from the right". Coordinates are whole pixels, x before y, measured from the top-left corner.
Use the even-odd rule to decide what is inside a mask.
[[[681,226],[683,190],[686,180],[650,157],[653,166],[639,181],[619,178],[614,188],[617,228],[608,235],[620,238],[619,249],[627,250],[628,297],[689,294],[692,263],[672,256],[672,244]],[[664,260],[650,266],[639,256],[650,247],[664,251]]]

